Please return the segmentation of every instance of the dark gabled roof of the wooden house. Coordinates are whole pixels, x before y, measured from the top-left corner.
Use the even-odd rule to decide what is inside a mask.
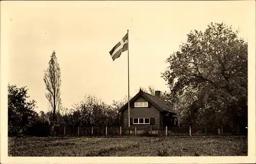
[[[148,102],[150,102],[152,105],[154,105],[160,111],[168,111],[168,112],[175,113],[174,111],[168,109],[168,107],[166,106],[166,103],[163,100],[159,99],[156,96],[150,95],[142,90],[140,90],[137,93],[137,95],[135,95],[130,100],[130,104],[133,103],[139,96],[142,96],[143,98],[145,98]],[[128,102],[119,109],[119,112],[121,112],[122,110],[124,110],[127,107],[128,107]]]

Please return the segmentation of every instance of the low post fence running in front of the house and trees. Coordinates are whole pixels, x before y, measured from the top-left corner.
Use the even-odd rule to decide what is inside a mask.
[[[238,135],[247,134],[244,129],[240,132],[240,128],[221,127],[56,127],[56,135],[67,136],[123,136],[123,135],[144,135],[144,136],[172,136],[172,135]]]

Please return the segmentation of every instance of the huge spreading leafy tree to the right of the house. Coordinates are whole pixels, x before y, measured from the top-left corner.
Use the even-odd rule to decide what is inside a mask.
[[[247,122],[247,42],[239,31],[211,23],[191,31],[162,73],[165,99],[189,124]]]

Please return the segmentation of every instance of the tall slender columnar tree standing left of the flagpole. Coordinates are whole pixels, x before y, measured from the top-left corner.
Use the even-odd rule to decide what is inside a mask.
[[[44,82],[46,85],[46,98],[49,101],[53,117],[52,117],[52,129],[54,130],[54,124],[56,121],[56,110],[58,110],[61,106],[61,98],[60,98],[60,67],[57,62],[57,57],[55,55],[55,51],[53,51],[51,55],[51,59],[49,61],[49,66],[47,71],[45,71]]]

